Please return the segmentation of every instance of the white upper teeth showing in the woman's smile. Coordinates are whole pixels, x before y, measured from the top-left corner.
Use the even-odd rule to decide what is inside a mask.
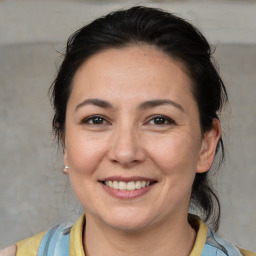
[[[119,189],[119,190],[136,190],[140,188],[144,188],[150,185],[150,181],[129,181],[129,182],[124,182],[124,181],[105,181],[104,184],[110,188],[114,189]]]

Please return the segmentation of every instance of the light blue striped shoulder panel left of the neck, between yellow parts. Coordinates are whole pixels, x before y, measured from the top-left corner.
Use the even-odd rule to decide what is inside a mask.
[[[49,229],[42,238],[37,256],[69,256],[70,229],[67,224]]]

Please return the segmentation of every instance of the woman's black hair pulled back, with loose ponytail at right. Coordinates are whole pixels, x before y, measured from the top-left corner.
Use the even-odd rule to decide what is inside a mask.
[[[157,47],[183,63],[193,83],[202,134],[212,128],[213,119],[219,119],[217,113],[228,97],[214,66],[209,43],[197,28],[184,19],[160,9],[136,6],[98,18],[68,39],[64,60],[50,88],[55,111],[52,125],[59,141],[65,131],[67,102],[78,68],[90,56],[104,49],[140,44]],[[224,160],[222,138],[216,155],[219,157],[215,161],[220,164]],[[196,174],[191,204],[200,210],[201,217],[214,230],[218,229],[220,204],[210,184],[209,171]]]

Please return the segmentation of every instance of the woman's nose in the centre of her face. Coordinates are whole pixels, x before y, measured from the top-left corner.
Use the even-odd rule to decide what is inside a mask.
[[[109,160],[129,168],[146,159],[141,138],[133,127],[119,127],[113,132],[108,152]]]

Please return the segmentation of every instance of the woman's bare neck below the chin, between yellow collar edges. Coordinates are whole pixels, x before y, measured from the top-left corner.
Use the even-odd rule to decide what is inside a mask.
[[[89,217],[89,216],[88,216]],[[188,256],[196,238],[187,216],[139,231],[120,231],[86,218],[86,256]]]

